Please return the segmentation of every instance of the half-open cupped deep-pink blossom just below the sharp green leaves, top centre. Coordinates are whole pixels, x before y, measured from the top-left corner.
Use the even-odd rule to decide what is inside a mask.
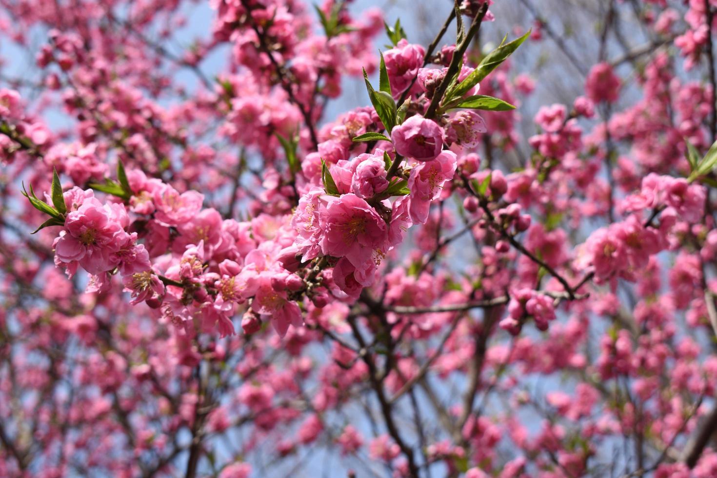
[[[416,161],[432,161],[443,148],[443,130],[433,120],[415,115],[391,131],[396,152]]]

